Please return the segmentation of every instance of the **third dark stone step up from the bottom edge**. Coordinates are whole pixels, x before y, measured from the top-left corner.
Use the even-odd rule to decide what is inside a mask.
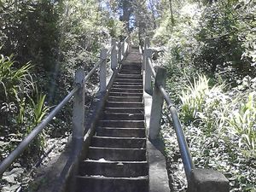
[[[100,148],[90,147],[89,160],[145,161],[145,148]]]

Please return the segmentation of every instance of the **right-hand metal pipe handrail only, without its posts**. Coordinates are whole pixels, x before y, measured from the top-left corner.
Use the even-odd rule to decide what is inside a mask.
[[[152,62],[149,57],[147,58],[147,61],[148,61],[147,62],[148,67],[150,68],[152,76],[155,79],[156,73],[154,71],[154,67],[152,66]],[[157,82],[156,82],[156,86],[159,88],[161,95],[164,97],[164,99],[167,103],[168,110],[171,113],[172,123],[173,123],[173,127],[175,129],[175,132],[176,132],[177,143],[178,143],[178,147],[179,147],[181,157],[183,160],[185,174],[186,174],[187,180],[189,180],[191,171],[195,168],[195,166],[193,164],[193,161],[192,161],[192,158],[191,158],[191,155],[189,152],[188,143],[186,142],[186,139],[184,137],[184,133],[182,130],[180,120],[178,119],[178,116],[177,116],[177,110],[176,110],[176,108],[174,108],[172,100],[171,100],[170,96],[168,96],[164,86],[162,84],[158,84]]]

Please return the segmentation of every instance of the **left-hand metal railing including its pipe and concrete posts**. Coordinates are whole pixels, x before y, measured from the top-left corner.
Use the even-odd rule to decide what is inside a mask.
[[[25,139],[12,151],[9,156],[7,156],[0,164],[0,177],[2,177],[3,172],[5,172],[9,166],[18,158],[20,154],[32,143],[33,139],[38,136],[38,134],[45,128],[46,125],[55,117],[55,115],[63,108],[67,102],[70,101],[72,97],[73,100],[73,143],[84,137],[84,90],[85,82],[90,79],[96,69],[100,67],[100,91],[105,91],[107,87],[107,58],[110,55],[111,68],[116,70],[118,68],[118,61],[122,61],[129,50],[128,44],[129,37],[125,38],[123,42],[119,42],[117,46],[117,41],[112,40],[112,45],[110,49],[102,49],[100,55],[100,61],[90,70],[90,72],[85,76],[84,69],[79,68],[75,74],[74,88],[70,93],[47,115],[42,122],[37,125],[31,133],[29,133]]]

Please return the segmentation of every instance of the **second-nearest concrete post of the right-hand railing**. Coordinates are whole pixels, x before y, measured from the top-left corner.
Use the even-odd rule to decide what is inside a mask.
[[[145,91],[149,94],[152,95],[152,85],[151,85],[151,70],[149,67],[149,61],[151,61],[151,55],[152,55],[152,50],[151,49],[146,49],[145,51]]]

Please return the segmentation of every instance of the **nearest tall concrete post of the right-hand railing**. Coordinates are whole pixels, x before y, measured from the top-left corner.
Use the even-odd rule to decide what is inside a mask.
[[[149,138],[157,139],[160,133],[160,120],[162,118],[162,108],[164,97],[161,94],[158,85],[166,86],[166,69],[155,67],[156,77],[154,82],[154,92],[152,98],[150,122],[149,122]]]

